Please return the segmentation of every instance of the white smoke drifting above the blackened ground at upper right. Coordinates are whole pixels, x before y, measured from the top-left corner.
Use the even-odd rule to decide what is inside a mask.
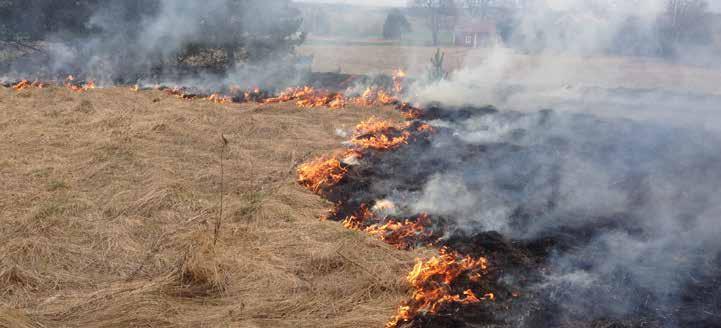
[[[666,15],[662,0],[536,1],[517,12],[505,42],[470,52],[467,61],[481,54],[482,62],[409,94],[419,104],[553,108],[718,130],[718,45],[661,40]],[[672,46],[675,57],[661,57]]]

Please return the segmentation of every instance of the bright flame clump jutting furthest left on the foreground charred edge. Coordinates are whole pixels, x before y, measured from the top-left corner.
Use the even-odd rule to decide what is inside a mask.
[[[343,156],[323,156],[302,164],[298,167],[298,183],[316,194],[323,194],[340,183],[348,174],[348,169],[341,159],[357,160],[361,157],[359,152],[351,150],[345,152]]]

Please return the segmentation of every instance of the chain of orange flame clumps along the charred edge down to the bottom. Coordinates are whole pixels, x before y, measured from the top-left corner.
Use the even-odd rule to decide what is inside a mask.
[[[357,153],[355,158],[377,155],[391,151],[418,137],[434,133],[434,129],[426,123],[396,123],[371,117],[356,126],[350,144],[355,147],[350,153]],[[347,154],[345,154],[347,155]],[[338,193],[336,186],[348,180],[353,174],[338,154],[320,157],[302,165],[299,170],[299,182],[319,195]],[[346,161],[347,162],[347,161]],[[356,161],[357,162],[357,161]],[[352,180],[353,178],[350,178]],[[361,178],[362,179],[362,178]],[[345,181],[353,183],[353,181]],[[389,201],[376,201],[373,208],[360,203],[354,208],[357,199],[340,197],[336,208],[326,217],[341,221],[343,226],[354,231],[362,231],[382,240],[398,249],[412,249],[419,245],[433,245],[438,236],[434,235],[432,222],[428,215],[421,213],[415,218],[396,219],[383,215],[394,212],[395,205]],[[345,214],[344,214],[345,213]],[[494,300],[494,295],[487,291],[478,297],[479,291],[472,289],[457,290],[459,286],[481,285],[487,274],[486,258],[472,258],[441,248],[439,254],[427,260],[417,260],[416,266],[408,274],[407,281],[412,289],[409,300],[404,301],[398,313],[387,323],[387,328],[396,328],[403,324],[411,324],[420,316],[433,316],[448,306],[460,306],[479,303],[482,300]]]

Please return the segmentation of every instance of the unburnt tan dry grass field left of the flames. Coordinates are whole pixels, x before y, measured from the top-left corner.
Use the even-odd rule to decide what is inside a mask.
[[[0,88],[0,327],[382,326],[421,251],[319,221],[295,182],[371,115],[400,119]]]

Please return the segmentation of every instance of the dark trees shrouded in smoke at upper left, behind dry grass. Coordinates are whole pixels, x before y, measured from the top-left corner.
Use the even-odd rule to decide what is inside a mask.
[[[78,56],[105,56],[106,62],[124,68],[138,67],[138,61],[165,66],[207,49],[223,51],[226,64],[261,61],[290,53],[303,41],[300,12],[290,4],[290,0],[0,0],[0,46],[40,50],[47,42],[63,43]]]

